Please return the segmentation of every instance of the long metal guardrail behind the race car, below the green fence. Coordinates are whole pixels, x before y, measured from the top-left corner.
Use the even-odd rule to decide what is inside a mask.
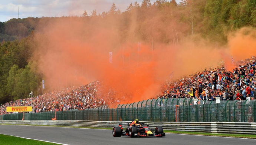
[[[56,126],[78,126],[78,127],[101,127],[112,128],[118,124],[130,121],[20,121],[7,120],[0,121],[0,124],[14,125],[56,125]],[[228,133],[228,134],[256,134],[256,123],[241,122],[144,122],[151,127],[162,126],[165,130],[190,131],[208,133]]]

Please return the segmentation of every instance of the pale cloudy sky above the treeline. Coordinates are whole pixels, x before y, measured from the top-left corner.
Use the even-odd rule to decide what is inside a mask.
[[[12,18],[26,17],[61,17],[82,16],[86,10],[88,14],[92,10],[97,13],[108,11],[113,3],[121,11],[125,11],[130,3],[136,0],[0,0],[0,22],[6,22]],[[143,0],[137,0],[141,3]],[[151,0],[154,3],[155,0]],[[176,0],[179,3],[181,0]]]

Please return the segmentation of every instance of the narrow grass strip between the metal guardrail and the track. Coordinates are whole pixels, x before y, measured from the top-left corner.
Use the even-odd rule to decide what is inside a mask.
[[[14,124],[3,124],[3,125],[14,125]],[[24,124],[16,124],[24,125]],[[25,124],[28,125],[28,124]],[[28,125],[28,126],[52,126],[52,127],[68,127],[68,128],[89,128],[89,129],[107,129],[112,130],[113,128],[97,128],[97,127],[82,127],[82,126],[58,126],[58,125]],[[189,132],[189,131],[164,131],[169,134],[187,134],[187,135],[205,135],[205,136],[222,136],[222,137],[232,137],[232,138],[251,138],[256,139],[256,135],[247,135],[247,134],[212,134],[205,132]]]

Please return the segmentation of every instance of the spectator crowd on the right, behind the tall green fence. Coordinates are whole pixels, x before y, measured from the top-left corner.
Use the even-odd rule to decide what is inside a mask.
[[[232,72],[224,63],[213,69],[205,69],[174,82],[164,83],[163,92],[157,98],[194,98],[200,100],[250,100],[256,99],[256,59],[233,62]]]

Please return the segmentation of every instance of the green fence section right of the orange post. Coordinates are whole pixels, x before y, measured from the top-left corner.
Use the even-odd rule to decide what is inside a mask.
[[[180,122],[256,122],[256,101],[207,102],[179,107]]]

